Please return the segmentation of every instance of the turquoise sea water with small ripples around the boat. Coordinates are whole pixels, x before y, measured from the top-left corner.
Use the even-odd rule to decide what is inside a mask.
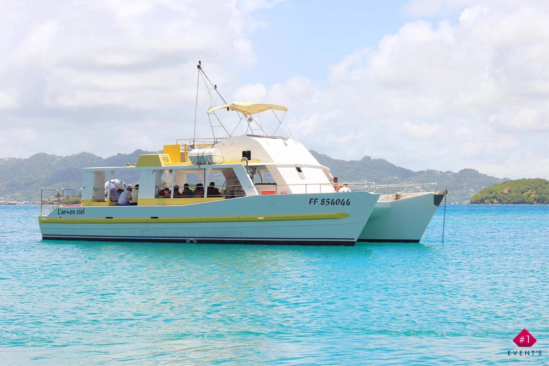
[[[37,215],[0,206],[0,364],[549,362],[549,206],[355,247],[41,241]]]

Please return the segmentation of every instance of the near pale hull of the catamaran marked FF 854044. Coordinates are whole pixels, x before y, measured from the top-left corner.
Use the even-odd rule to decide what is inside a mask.
[[[57,240],[354,245],[378,197],[287,194],[183,206],[59,207],[39,223],[43,239]]]

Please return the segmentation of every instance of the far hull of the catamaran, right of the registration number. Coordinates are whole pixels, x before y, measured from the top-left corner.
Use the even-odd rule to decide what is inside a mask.
[[[378,201],[357,241],[417,243],[444,195],[425,193]]]

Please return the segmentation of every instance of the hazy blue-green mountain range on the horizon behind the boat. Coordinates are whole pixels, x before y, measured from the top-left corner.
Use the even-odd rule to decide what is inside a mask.
[[[133,164],[139,155],[154,151],[136,150],[131,154],[117,154],[103,159],[90,153],[69,156],[38,153],[27,159],[7,157],[0,159],[0,198],[5,200],[40,199],[41,188],[80,188],[82,168],[91,166],[126,166]],[[393,183],[438,183],[440,189],[448,189],[451,202],[468,201],[475,193],[489,185],[502,183],[508,179],[481,174],[473,169],[463,169],[457,173],[436,170],[414,172],[391,164],[384,159],[369,156],[361,160],[333,159],[328,155],[312,151],[320,164],[331,169],[339,181],[369,181],[377,184]],[[120,172],[116,177],[125,182],[136,182],[135,172]]]

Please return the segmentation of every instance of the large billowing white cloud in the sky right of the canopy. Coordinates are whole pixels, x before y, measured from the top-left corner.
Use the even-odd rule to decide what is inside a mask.
[[[516,164],[547,156],[547,10],[480,2],[456,25],[411,21],[377,49],[358,49],[330,66],[328,86],[292,77],[269,88],[268,100],[292,107],[296,137],[332,156],[547,177],[547,166]],[[334,109],[336,117],[323,117]]]

